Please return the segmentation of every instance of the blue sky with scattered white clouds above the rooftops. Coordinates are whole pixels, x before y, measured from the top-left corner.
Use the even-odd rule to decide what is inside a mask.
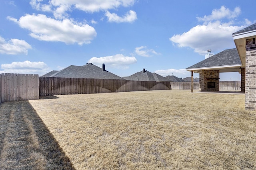
[[[0,73],[41,76],[105,63],[121,77],[145,68],[185,78],[191,76],[185,68],[208,49],[235,48],[232,33],[256,22],[255,6],[255,0],[1,0]]]

